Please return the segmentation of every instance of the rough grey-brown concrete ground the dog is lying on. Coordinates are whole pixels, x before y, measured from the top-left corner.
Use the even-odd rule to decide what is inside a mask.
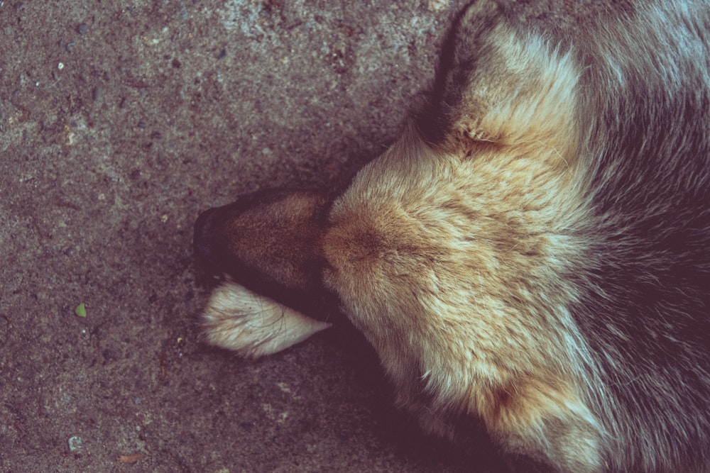
[[[190,250],[200,210],[391,143],[460,3],[0,1],[2,472],[500,470],[421,435],[347,329],[200,343]]]

